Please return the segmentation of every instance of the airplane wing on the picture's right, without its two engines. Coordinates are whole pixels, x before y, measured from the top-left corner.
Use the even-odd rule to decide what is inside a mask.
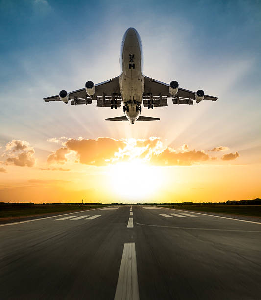
[[[195,93],[179,87],[178,93],[172,97],[169,84],[145,76],[143,103],[144,107],[148,107],[148,102],[153,100],[154,107],[167,106],[167,97],[172,97],[173,104],[192,105]],[[205,95],[203,100],[216,101],[217,97]]]

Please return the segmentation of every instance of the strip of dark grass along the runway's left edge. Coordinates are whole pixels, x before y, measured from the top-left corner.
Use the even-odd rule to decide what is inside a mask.
[[[70,212],[77,210],[89,210],[108,206],[108,204],[31,204],[31,205],[0,205],[0,219],[23,216],[36,216],[49,213]]]

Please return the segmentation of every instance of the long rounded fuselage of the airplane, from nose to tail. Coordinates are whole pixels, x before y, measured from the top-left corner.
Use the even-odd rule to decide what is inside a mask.
[[[140,116],[136,107],[142,105],[144,92],[143,50],[139,33],[134,28],[125,32],[120,51],[121,74],[119,87],[123,105],[128,106],[126,117],[134,123]]]

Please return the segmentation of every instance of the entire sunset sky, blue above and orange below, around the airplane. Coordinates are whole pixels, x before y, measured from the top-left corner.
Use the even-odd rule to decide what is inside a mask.
[[[261,197],[261,1],[0,0],[1,202],[224,202]],[[144,74],[217,96],[122,110],[45,103],[120,73],[125,30]]]

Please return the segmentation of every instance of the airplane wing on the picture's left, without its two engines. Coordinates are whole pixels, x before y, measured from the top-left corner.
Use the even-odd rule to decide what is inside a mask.
[[[95,94],[90,97],[85,88],[68,93],[71,105],[92,104],[92,100],[97,100],[97,106],[111,107],[112,98],[116,101],[117,107],[121,104],[121,94],[119,89],[119,76],[95,84]],[[46,102],[61,101],[59,95],[44,98]]]

